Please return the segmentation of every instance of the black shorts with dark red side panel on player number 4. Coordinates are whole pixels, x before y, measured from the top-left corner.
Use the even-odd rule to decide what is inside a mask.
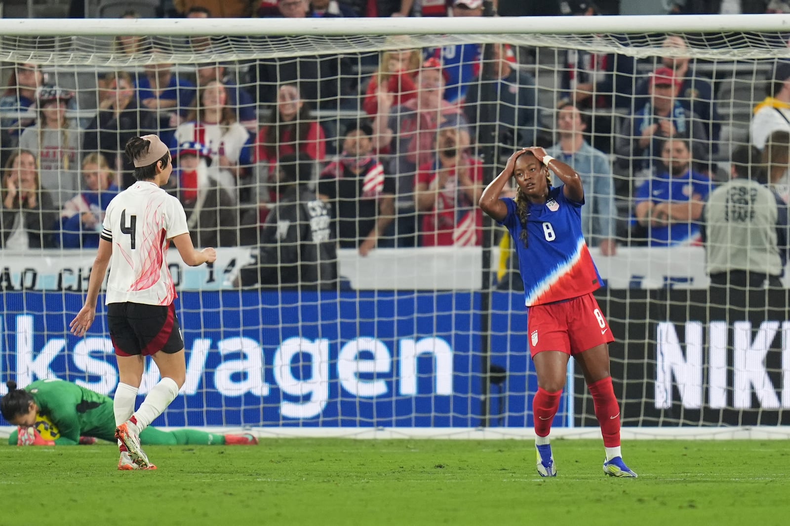
[[[173,354],[184,348],[172,304],[111,303],[107,305],[107,326],[118,356],[150,356],[159,351]]]

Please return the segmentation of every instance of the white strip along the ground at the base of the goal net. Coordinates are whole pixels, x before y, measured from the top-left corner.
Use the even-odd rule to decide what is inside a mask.
[[[0,427],[0,438],[8,438],[15,427]],[[160,427],[177,429],[177,427]],[[252,433],[258,438],[355,438],[355,439],[457,439],[457,440],[532,440],[532,428],[521,427],[197,427],[213,433]],[[754,427],[623,427],[623,440],[787,440],[790,426]],[[555,427],[552,438],[600,439],[598,427]]]

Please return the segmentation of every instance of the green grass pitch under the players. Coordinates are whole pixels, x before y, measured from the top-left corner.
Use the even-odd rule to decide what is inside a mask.
[[[266,439],[151,446],[0,446],[0,524],[790,524],[790,442],[635,441],[638,479],[601,471],[600,441]]]

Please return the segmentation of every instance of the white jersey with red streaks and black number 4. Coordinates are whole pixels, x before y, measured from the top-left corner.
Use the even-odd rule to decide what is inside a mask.
[[[175,285],[167,245],[188,233],[179,200],[149,181],[137,181],[110,201],[101,237],[112,243],[105,303],[169,305]]]

